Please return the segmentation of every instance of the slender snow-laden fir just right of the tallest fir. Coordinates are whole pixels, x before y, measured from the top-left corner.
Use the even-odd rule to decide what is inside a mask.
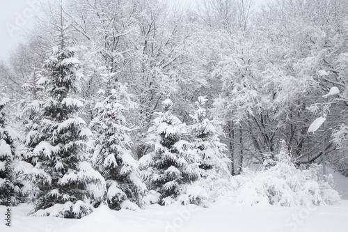
[[[113,82],[115,83],[115,82]],[[126,87],[115,83],[118,88],[102,90],[104,99],[95,106],[97,116],[90,125],[95,132],[93,161],[95,168],[106,181],[103,200],[113,210],[141,206],[146,186],[139,178],[139,168],[132,157],[132,139],[125,116],[126,108],[120,103],[120,89]],[[116,87],[116,86],[115,86]],[[134,205],[136,203],[136,205]]]

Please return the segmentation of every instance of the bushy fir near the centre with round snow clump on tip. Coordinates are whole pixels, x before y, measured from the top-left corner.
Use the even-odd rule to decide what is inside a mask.
[[[198,156],[190,152],[191,144],[183,139],[187,126],[173,116],[172,106],[171,100],[164,101],[165,113],[157,113],[148,130],[153,151],[139,160],[140,167],[146,169],[144,178],[148,188],[159,193],[157,203],[161,205],[174,201],[188,203],[193,196],[186,194],[186,187],[200,176]]]

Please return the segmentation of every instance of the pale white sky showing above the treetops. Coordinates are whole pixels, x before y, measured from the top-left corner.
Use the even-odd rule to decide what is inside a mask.
[[[33,25],[33,13],[40,13],[40,0],[0,0],[0,60],[6,61],[10,51],[23,40],[26,29]],[[189,4],[200,0],[169,0]],[[254,0],[263,3],[267,0]]]

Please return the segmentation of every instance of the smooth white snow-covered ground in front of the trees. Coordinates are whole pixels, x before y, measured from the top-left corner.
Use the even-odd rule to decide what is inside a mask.
[[[333,173],[332,169],[328,169]],[[348,228],[348,179],[333,173],[342,202],[335,206],[235,206],[228,197],[209,208],[198,206],[148,206],[144,210],[109,210],[102,206],[82,219],[28,217],[30,206],[12,208],[12,226],[1,219],[0,231],[335,231]],[[6,207],[1,206],[4,217]]]

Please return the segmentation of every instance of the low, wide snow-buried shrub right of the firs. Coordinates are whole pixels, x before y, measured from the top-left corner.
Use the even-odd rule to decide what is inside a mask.
[[[260,172],[244,170],[239,181],[236,201],[253,206],[265,203],[278,206],[333,204],[340,201],[330,183],[332,176],[322,176],[319,166],[296,169],[285,148],[276,155],[276,165]]]

